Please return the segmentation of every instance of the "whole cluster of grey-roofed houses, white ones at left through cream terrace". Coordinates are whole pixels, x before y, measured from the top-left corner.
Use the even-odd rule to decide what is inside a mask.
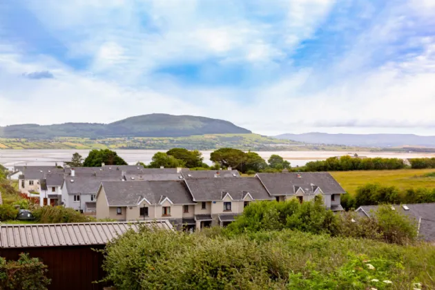
[[[41,205],[63,204],[97,218],[170,220],[178,228],[202,229],[235,220],[250,202],[300,202],[322,195],[325,206],[342,211],[345,193],[329,173],[258,173],[190,171],[188,168],[18,168],[19,188],[40,197]],[[17,173],[14,173],[17,174]]]

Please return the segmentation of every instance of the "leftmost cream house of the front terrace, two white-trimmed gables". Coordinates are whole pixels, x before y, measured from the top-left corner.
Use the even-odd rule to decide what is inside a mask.
[[[97,193],[97,218],[115,220],[165,219],[190,224],[195,202],[182,180],[104,181]]]

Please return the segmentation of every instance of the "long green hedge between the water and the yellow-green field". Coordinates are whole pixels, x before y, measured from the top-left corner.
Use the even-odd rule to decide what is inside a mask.
[[[392,170],[407,166],[399,158],[360,158],[358,155],[330,157],[327,160],[308,162],[303,171],[357,171],[357,170]]]

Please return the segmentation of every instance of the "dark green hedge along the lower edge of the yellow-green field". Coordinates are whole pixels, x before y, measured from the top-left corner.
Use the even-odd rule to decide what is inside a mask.
[[[341,196],[341,205],[345,209],[357,209],[359,206],[377,204],[421,204],[435,202],[435,189],[405,189],[396,186],[366,184],[356,189],[355,196],[346,193]]]

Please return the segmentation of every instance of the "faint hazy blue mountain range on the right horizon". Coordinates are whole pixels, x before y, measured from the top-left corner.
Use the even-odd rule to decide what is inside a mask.
[[[340,144],[347,146],[427,146],[435,147],[435,136],[418,136],[413,134],[327,134],[304,133],[282,134],[278,139],[289,139],[309,144]]]

